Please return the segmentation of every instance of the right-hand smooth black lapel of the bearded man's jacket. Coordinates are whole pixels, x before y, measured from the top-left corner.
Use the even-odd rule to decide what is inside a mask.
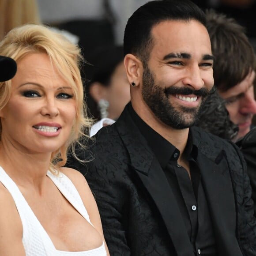
[[[221,151],[212,161],[199,151],[197,160],[219,255],[242,256],[236,238],[236,204],[226,153]]]

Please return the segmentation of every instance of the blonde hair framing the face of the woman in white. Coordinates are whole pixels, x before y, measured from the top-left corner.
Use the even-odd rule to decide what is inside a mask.
[[[53,66],[72,86],[74,91],[76,102],[75,122],[68,141],[52,153],[49,168],[54,173],[54,169],[64,166],[67,162],[68,149],[71,148],[75,156],[75,143],[81,139],[89,138],[85,131],[90,127],[92,120],[87,117],[83,102],[83,82],[80,75],[83,57],[77,45],[72,44],[63,35],[42,25],[24,25],[14,28],[0,42],[0,55],[11,57],[17,62],[30,53],[46,53]],[[4,108],[10,96],[11,80],[0,83],[0,109]],[[1,130],[0,125],[0,133]],[[84,142],[80,143],[80,145],[83,144]]]

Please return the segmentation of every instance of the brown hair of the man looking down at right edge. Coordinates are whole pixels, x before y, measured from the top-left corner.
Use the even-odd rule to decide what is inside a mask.
[[[211,51],[215,56],[215,86],[227,91],[256,69],[254,50],[245,35],[245,29],[224,14],[208,10],[206,27],[211,38]]]

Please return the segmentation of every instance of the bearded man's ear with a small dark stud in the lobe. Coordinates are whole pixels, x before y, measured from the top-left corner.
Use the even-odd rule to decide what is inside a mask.
[[[141,60],[133,54],[128,53],[124,56],[124,67],[129,84],[135,83],[135,86],[138,86],[143,75],[143,65]]]

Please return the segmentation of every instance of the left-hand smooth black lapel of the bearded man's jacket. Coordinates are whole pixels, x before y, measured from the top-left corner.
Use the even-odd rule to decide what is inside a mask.
[[[166,176],[128,113],[124,110],[117,130],[131,159],[131,170],[143,184],[162,216],[177,256],[193,256],[192,245]]]

